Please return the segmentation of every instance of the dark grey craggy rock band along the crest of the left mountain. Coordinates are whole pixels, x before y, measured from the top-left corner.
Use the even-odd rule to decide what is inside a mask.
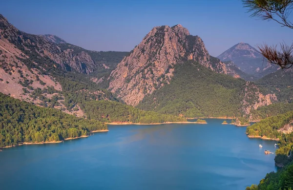
[[[51,37],[22,32],[0,15],[0,38],[7,39],[22,51],[25,50],[27,56],[29,54],[48,56],[51,60],[60,64],[64,70],[75,70],[81,73],[92,72],[95,64],[87,53],[64,52],[55,42],[48,41],[48,38],[51,39]]]

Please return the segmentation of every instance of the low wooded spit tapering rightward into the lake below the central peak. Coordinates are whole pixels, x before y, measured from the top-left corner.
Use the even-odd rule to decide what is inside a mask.
[[[88,119],[95,119],[106,123],[165,123],[186,121],[185,118],[169,114],[158,114],[153,111],[143,111],[112,101],[91,101],[82,105]]]

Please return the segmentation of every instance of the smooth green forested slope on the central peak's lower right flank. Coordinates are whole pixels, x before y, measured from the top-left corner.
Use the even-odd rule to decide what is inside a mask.
[[[215,73],[193,61],[174,68],[170,84],[146,96],[138,108],[191,118],[240,115],[244,80]]]

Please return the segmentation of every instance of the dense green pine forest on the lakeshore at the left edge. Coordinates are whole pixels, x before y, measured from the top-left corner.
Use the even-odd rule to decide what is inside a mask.
[[[0,147],[23,142],[61,141],[101,129],[107,126],[99,121],[34,106],[0,93]]]

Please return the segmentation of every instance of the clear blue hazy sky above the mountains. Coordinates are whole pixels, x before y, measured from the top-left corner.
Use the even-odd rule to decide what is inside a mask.
[[[292,29],[246,11],[241,0],[6,0],[0,6],[24,32],[97,51],[130,51],[154,26],[178,23],[200,36],[212,56],[238,42],[292,42]]]

